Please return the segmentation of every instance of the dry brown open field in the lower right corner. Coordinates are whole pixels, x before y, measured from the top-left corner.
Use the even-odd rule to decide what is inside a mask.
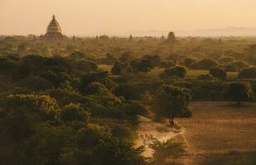
[[[191,107],[193,116],[178,120],[186,127],[187,164],[256,164],[256,103],[192,102]]]

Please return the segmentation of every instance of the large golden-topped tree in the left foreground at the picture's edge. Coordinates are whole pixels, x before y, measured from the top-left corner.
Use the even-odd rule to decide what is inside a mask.
[[[27,138],[36,131],[37,124],[60,119],[60,108],[56,100],[46,95],[9,95],[4,103],[2,116],[12,139]]]

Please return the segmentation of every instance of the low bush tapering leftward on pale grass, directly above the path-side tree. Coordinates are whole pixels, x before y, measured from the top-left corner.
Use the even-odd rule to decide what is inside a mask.
[[[187,68],[183,66],[176,66],[173,68],[166,68],[163,73],[159,76],[160,78],[170,78],[170,77],[178,77],[178,78],[186,78]]]

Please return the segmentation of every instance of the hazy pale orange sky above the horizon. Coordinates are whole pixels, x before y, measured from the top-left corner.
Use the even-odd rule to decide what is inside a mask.
[[[53,14],[66,35],[256,27],[256,0],[0,0],[0,34],[45,34]]]

